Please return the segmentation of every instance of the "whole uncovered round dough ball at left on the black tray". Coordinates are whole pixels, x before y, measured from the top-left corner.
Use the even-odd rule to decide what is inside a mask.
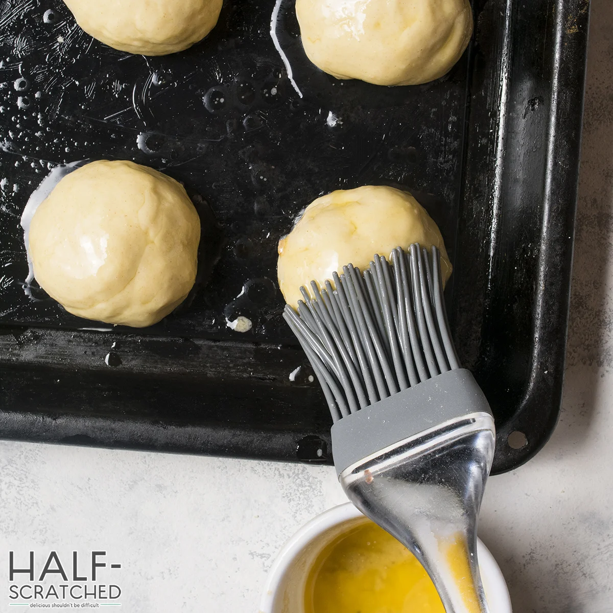
[[[69,313],[151,326],[196,280],[200,218],[183,186],[101,160],[66,175],[37,208],[29,251],[40,286]]]

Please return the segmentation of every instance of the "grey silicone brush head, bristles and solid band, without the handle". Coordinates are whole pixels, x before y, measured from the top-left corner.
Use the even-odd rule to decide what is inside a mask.
[[[455,354],[436,247],[397,248],[364,273],[343,271],[334,286],[311,283],[313,297],[302,287],[297,313],[284,312],[330,407],[339,475],[399,441],[491,416]]]

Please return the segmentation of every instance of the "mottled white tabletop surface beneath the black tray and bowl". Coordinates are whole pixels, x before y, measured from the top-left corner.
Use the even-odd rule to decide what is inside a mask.
[[[562,419],[481,517],[516,613],[613,611],[613,3],[592,4]],[[107,550],[129,613],[255,611],[285,539],[344,500],[330,468],[0,441],[0,611],[30,549]]]

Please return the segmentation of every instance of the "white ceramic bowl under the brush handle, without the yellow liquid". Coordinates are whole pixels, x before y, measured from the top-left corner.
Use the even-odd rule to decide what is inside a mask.
[[[300,528],[281,550],[268,573],[260,613],[305,613],[308,572],[327,544],[350,527],[367,521],[346,503],[318,515]],[[512,613],[509,590],[492,554],[478,543],[479,568],[491,613]]]

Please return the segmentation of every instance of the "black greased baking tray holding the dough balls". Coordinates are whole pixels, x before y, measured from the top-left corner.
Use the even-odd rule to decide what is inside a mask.
[[[227,1],[207,39],[159,58],[92,40],[59,1],[1,2],[0,435],[331,462],[326,403],[281,319],[276,243],[320,194],[381,184],[443,232],[455,342],[495,414],[493,471],[534,455],[562,395],[589,3],[473,8],[450,74],[382,88],[311,66],[281,2],[294,87],[273,0]],[[218,222],[210,280],[148,329],[23,291],[29,194],[56,164],[101,158],[163,170]],[[250,332],[226,326],[239,314]]]

